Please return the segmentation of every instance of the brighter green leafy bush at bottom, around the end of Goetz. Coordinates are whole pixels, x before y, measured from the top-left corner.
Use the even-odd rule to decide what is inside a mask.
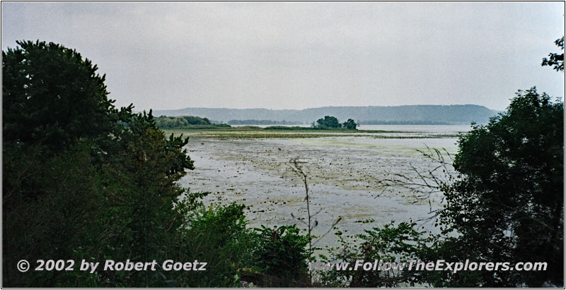
[[[246,227],[243,205],[208,208],[200,205],[187,216],[179,230],[175,259],[207,262],[206,272],[169,273],[174,286],[238,287],[238,270],[250,265],[253,236]]]

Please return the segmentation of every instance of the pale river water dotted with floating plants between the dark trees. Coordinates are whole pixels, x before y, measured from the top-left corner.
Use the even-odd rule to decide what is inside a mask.
[[[306,203],[301,180],[289,170],[289,160],[304,162],[308,174],[311,214],[319,212],[314,234],[337,224],[345,236],[391,221],[415,221],[437,232],[429,218],[441,207],[441,195],[420,195],[379,182],[395,174],[417,178],[437,166],[418,150],[457,151],[455,135],[469,126],[372,125],[362,130],[403,131],[319,138],[191,138],[187,145],[196,169],[181,181],[191,191],[209,191],[207,205],[246,205],[250,226],[297,224],[306,229]],[[386,138],[383,138],[386,137]],[[447,154],[446,154],[447,157]],[[447,157],[449,158],[449,157]],[[334,231],[332,231],[334,232]],[[317,246],[335,246],[329,234]]]

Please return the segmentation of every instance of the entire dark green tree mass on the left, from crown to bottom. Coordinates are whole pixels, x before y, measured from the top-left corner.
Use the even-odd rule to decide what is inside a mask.
[[[2,286],[163,286],[163,272],[16,270],[18,260],[179,257],[187,138],[117,110],[91,61],[59,44],[3,52]],[[9,233],[9,234],[8,234]]]

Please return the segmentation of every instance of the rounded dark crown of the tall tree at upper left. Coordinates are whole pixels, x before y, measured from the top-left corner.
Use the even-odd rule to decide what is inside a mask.
[[[50,151],[81,138],[104,138],[132,105],[115,109],[105,75],[73,49],[46,42],[17,42],[2,52],[2,135],[5,142],[36,143]]]

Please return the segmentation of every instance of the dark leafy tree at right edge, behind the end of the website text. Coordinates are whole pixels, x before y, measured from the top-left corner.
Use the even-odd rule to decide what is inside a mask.
[[[446,238],[444,258],[548,262],[548,269],[456,275],[454,284],[564,283],[563,115],[562,102],[535,87],[519,90],[507,111],[458,141],[454,168],[462,179],[444,188],[440,220],[444,234],[461,236]]]

